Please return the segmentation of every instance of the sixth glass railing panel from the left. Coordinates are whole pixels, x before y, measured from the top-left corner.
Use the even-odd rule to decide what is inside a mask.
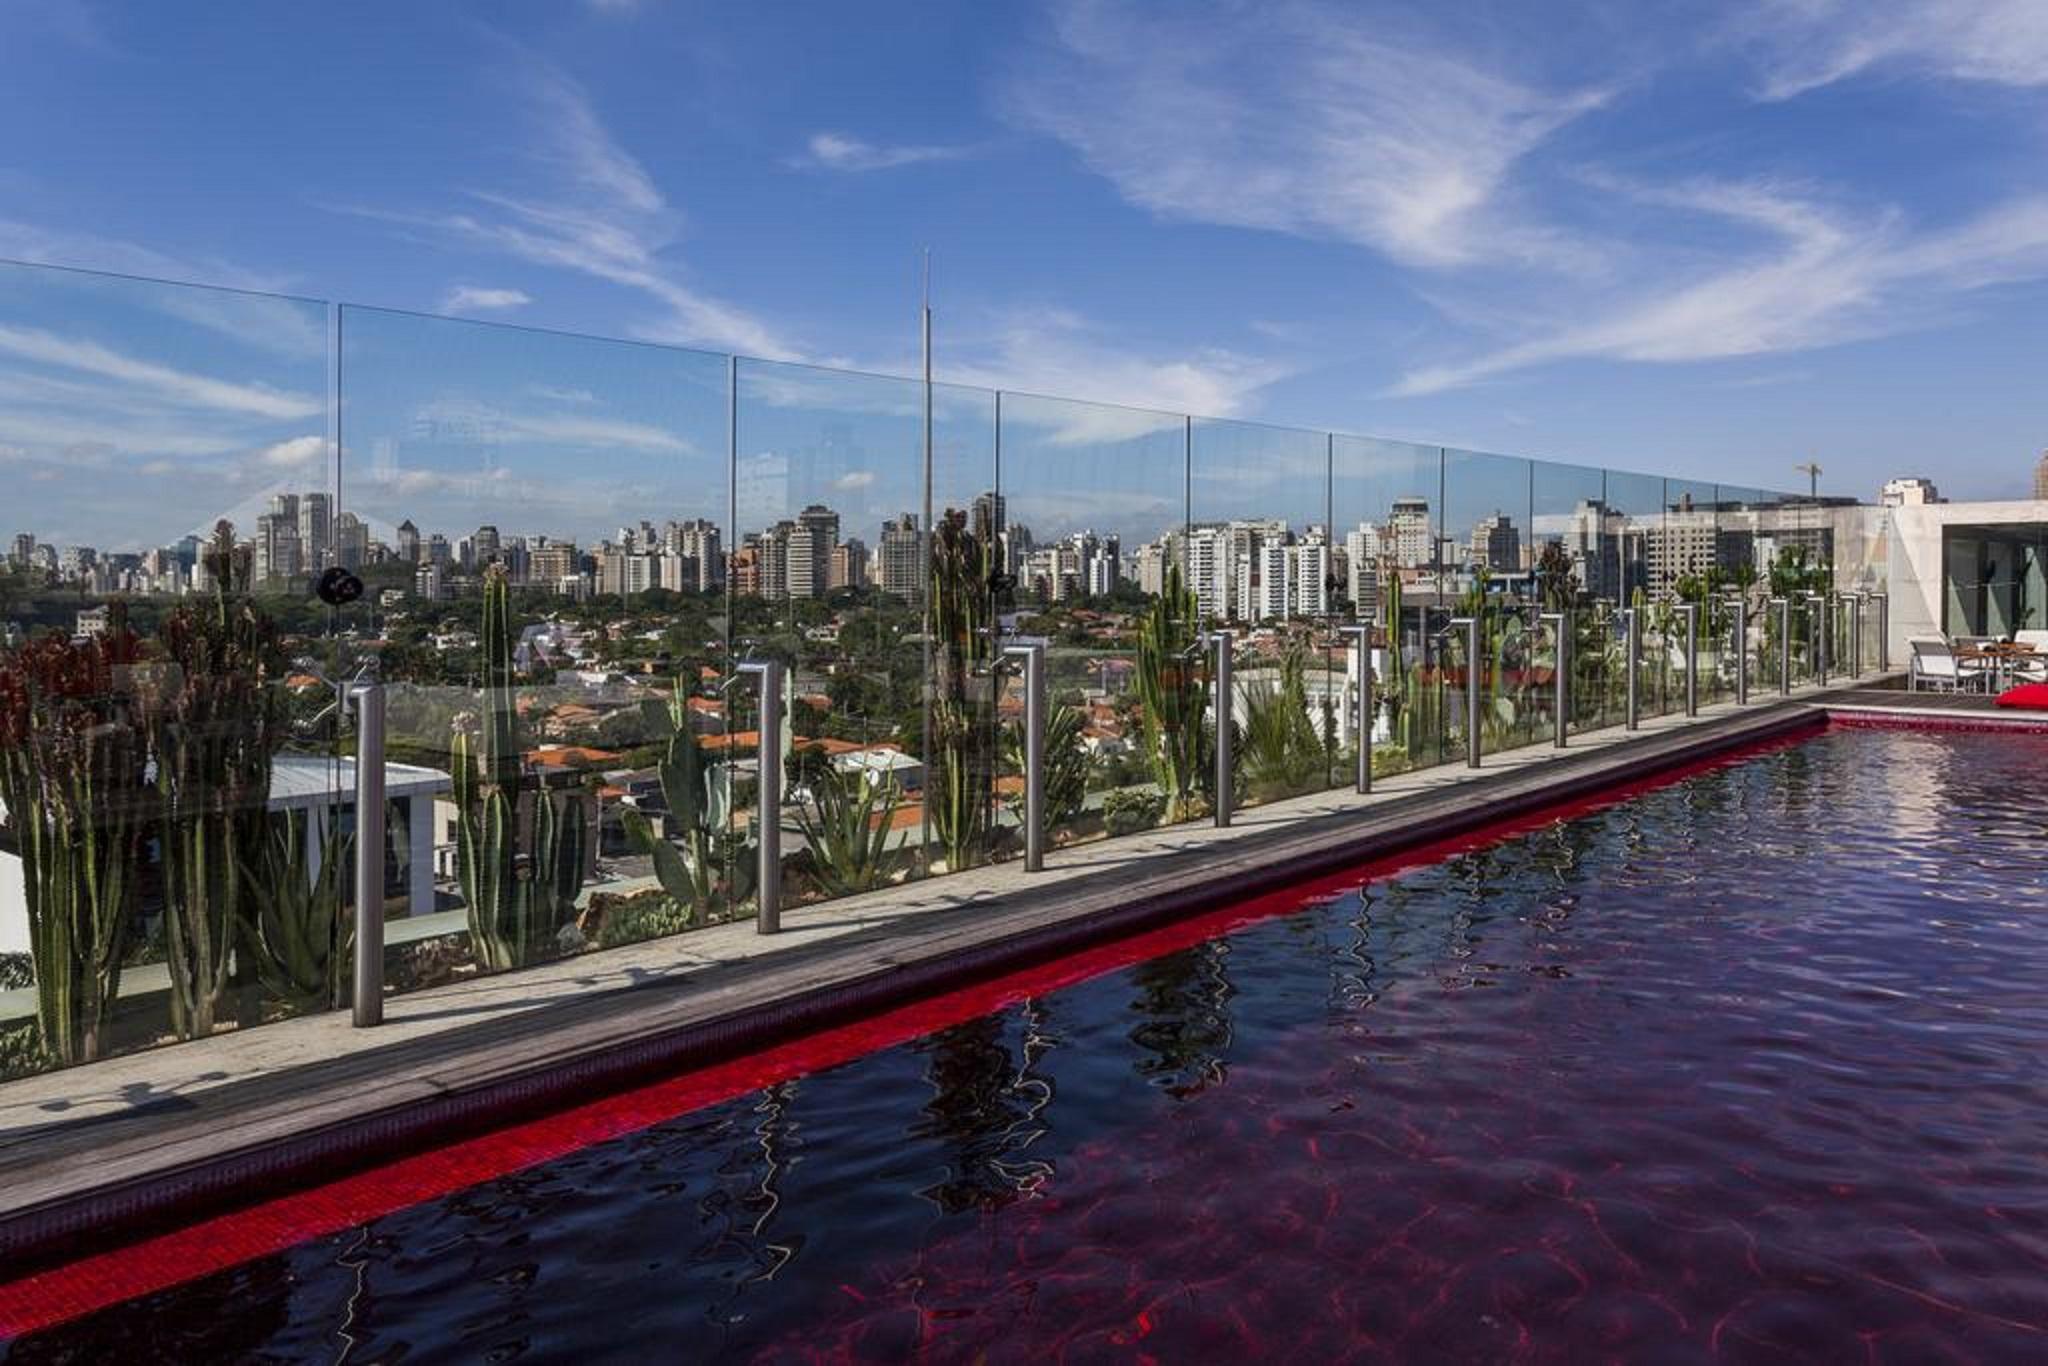
[[[1343,549],[1343,596],[1374,631],[1372,770],[1442,762],[1440,649],[1450,618],[1442,582],[1444,453],[1368,436],[1337,436],[1331,520]],[[1343,723],[1346,729],[1348,723]],[[1352,764],[1343,743],[1339,764]]]

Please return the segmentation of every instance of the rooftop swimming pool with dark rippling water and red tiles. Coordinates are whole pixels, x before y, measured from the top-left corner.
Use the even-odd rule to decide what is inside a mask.
[[[2042,1360],[2044,887],[2048,737],[1829,729],[10,1286],[0,1358]]]

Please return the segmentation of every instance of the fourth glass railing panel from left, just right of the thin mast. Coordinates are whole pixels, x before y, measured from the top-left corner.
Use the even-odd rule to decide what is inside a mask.
[[[1208,651],[1188,553],[1188,420],[1001,395],[1001,496],[1018,631],[1047,641],[1047,686],[1087,756],[1057,842],[1208,813]]]

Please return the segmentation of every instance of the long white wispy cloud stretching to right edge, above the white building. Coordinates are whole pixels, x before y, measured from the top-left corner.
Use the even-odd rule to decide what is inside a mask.
[[[1745,225],[1765,246],[1606,305],[1579,307],[1526,340],[1409,371],[1421,395],[1556,360],[1726,360],[1833,346],[1923,326],[1958,293],[2048,279],[2048,197],[1919,229],[1896,211],[1835,207],[1798,186],[1690,182],[1642,199]],[[1669,264],[1669,262],[1667,262]]]

